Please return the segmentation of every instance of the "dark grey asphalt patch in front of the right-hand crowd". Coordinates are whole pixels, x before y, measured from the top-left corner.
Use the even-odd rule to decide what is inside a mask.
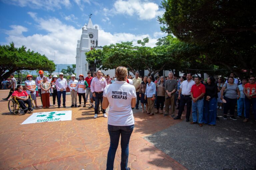
[[[216,126],[184,120],[145,139],[189,170],[256,169],[256,123],[219,117]]]

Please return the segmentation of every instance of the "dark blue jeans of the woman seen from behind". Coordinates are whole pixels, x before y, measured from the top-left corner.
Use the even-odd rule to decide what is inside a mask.
[[[121,134],[121,170],[127,170],[129,157],[129,141],[134,125],[131,126],[113,126],[108,125],[108,133],[110,136],[110,146],[107,158],[107,170],[113,170],[116,150]]]

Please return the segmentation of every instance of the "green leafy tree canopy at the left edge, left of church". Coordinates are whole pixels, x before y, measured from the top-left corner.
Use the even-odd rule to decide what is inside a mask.
[[[55,64],[45,55],[26,50],[24,45],[19,48],[13,42],[10,45],[0,45],[0,82],[15,71],[36,69],[54,71]]]

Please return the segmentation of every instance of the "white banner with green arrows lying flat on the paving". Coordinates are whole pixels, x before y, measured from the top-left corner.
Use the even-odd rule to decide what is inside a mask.
[[[22,125],[40,122],[70,121],[71,118],[71,110],[33,113],[22,123]]]

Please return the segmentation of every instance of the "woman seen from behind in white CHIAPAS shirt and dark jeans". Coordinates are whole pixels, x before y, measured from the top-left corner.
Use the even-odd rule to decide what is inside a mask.
[[[107,170],[112,170],[121,134],[121,170],[127,168],[129,156],[129,141],[134,128],[132,108],[136,105],[136,90],[126,82],[128,70],[120,66],[115,71],[116,81],[105,87],[103,91],[102,108],[108,112],[108,132],[110,147],[108,150]]]

